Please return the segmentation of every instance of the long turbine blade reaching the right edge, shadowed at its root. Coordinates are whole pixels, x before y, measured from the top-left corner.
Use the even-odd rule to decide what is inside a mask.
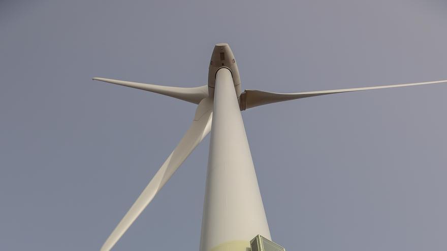
[[[263,104],[276,103],[276,102],[298,99],[298,98],[305,98],[305,97],[342,93],[342,92],[374,90],[374,89],[404,87],[404,86],[413,86],[413,85],[440,84],[440,83],[447,83],[447,80],[411,83],[411,84],[383,85],[383,86],[373,86],[373,87],[327,90],[327,91],[297,92],[297,93],[275,93],[275,92],[258,91],[258,90],[245,90],[245,92],[242,93],[242,96],[241,96],[240,108],[241,108],[241,110],[245,110],[245,109],[260,106]]]

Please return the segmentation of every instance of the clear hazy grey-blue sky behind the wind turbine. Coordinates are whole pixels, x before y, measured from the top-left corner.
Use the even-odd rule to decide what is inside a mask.
[[[242,89],[447,79],[441,0],[0,1],[0,249],[99,250],[195,105],[91,81]],[[272,238],[287,250],[447,249],[447,85],[243,112]],[[114,250],[198,250],[209,136]],[[237,227],[237,226],[235,226]]]

